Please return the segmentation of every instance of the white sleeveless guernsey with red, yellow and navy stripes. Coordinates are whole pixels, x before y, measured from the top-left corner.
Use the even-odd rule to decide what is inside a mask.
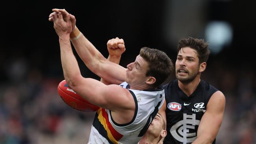
[[[117,124],[108,109],[100,108],[94,118],[88,144],[137,144],[164,102],[163,89],[134,90],[120,85],[134,97],[135,114],[128,124]]]

